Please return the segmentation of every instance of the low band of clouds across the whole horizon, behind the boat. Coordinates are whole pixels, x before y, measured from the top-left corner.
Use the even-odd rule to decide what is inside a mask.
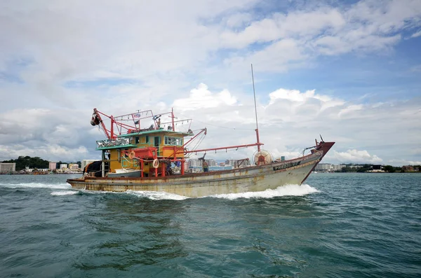
[[[260,140],[274,158],[293,158],[302,154],[305,147],[314,145],[314,138],[319,134],[326,141],[337,142],[333,152],[324,159],[328,162],[380,163],[403,155],[401,146],[418,144],[419,129],[408,127],[419,126],[417,118],[413,117],[419,110],[419,99],[355,104],[316,90],[300,92],[283,88],[269,92],[263,99],[267,102],[257,104]],[[161,109],[154,109],[155,113],[171,110],[168,104],[160,105]],[[193,130],[208,127],[208,135],[200,148],[256,141],[254,103],[250,95],[227,89],[214,91],[200,83],[190,90],[189,97],[175,99],[172,106],[178,120],[193,118]],[[116,107],[128,113],[127,107]],[[105,108],[112,109],[112,105]],[[106,109],[100,111],[110,114]],[[29,154],[62,161],[95,157],[98,155],[94,151],[95,140],[103,139],[104,135],[89,124],[91,113],[91,109],[22,109],[0,114],[0,159]],[[20,143],[16,144],[17,141]],[[349,149],[349,146],[356,147]],[[243,148],[238,152],[210,152],[208,157],[250,158],[254,152],[255,148]],[[408,155],[416,157],[417,154]]]

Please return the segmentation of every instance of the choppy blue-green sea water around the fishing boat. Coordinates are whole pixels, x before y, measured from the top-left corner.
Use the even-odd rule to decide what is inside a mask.
[[[188,198],[0,176],[0,277],[421,277],[421,174]]]

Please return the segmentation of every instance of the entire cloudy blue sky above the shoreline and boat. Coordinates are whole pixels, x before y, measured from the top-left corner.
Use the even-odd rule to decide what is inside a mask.
[[[200,148],[254,143],[253,64],[274,158],[321,134],[323,162],[421,164],[421,0],[2,0],[0,37],[0,161],[99,159],[93,108],[173,108],[208,129]]]

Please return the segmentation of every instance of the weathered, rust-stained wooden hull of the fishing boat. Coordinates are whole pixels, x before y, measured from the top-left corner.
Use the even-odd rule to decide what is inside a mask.
[[[331,146],[333,142],[320,151],[293,160],[220,172],[147,178],[84,176],[67,182],[76,189],[163,191],[187,197],[263,191],[287,184],[302,184]]]

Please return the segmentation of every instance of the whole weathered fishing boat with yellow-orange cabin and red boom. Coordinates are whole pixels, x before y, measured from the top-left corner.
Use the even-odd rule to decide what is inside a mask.
[[[96,141],[102,159],[87,165],[81,178],[68,179],[67,183],[76,189],[162,191],[187,197],[263,191],[287,184],[301,185],[335,144],[321,138],[297,158],[274,159],[262,149],[255,113],[255,143],[198,149],[198,144],[192,142],[201,141],[207,129],[192,131],[192,119],[176,118],[173,109],[159,114],[145,110],[122,116],[108,116],[93,109],[91,125],[100,127],[107,137]],[[179,130],[180,122],[189,123],[188,128]],[[241,163],[248,161],[243,159],[233,169],[209,171],[206,152],[239,148],[257,149],[250,165]],[[185,167],[187,159],[197,153],[203,153],[199,158],[200,170],[189,171]]]

